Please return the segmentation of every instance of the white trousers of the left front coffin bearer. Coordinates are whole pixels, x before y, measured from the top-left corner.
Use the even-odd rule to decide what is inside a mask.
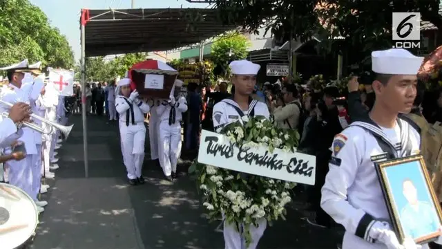
[[[135,179],[141,176],[144,160],[144,140],[146,140],[146,127],[144,122],[135,125],[126,125],[119,122],[119,136],[122,142],[122,154],[127,177]]]

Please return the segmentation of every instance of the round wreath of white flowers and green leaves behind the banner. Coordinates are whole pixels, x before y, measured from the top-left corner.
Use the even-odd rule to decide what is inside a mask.
[[[291,129],[274,127],[270,120],[256,116],[228,124],[220,132],[227,136],[232,145],[238,147],[268,147],[296,152],[299,134]],[[285,205],[291,202],[289,190],[296,183],[255,176],[198,163],[189,168],[198,178],[198,189],[203,194],[203,205],[213,220],[224,216],[227,223],[243,225],[242,236],[247,246],[251,243],[250,225],[257,225],[259,219],[266,219],[271,225],[279,218],[285,219]]]

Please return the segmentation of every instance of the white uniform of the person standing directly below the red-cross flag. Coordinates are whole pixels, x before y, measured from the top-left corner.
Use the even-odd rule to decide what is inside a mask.
[[[37,105],[41,109],[45,109],[45,115],[44,118],[46,120],[50,120],[52,122],[55,122],[57,120],[57,104],[58,104],[58,94],[53,89],[53,86],[46,86],[46,93],[44,95],[40,95],[39,99],[37,100]],[[55,133],[54,129],[50,127],[50,125],[43,123],[41,126],[45,129],[45,131],[50,131],[49,134],[43,134],[43,143],[44,143],[44,149],[43,149],[43,155],[44,155],[44,167],[41,169],[41,173],[43,172],[49,172],[49,166],[50,166],[50,155],[51,155],[51,149],[53,151],[55,142],[52,140],[52,134]]]

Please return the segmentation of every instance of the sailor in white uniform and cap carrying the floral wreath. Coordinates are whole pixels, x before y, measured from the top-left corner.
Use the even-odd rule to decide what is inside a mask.
[[[260,70],[259,64],[247,60],[233,61],[229,65],[233,74],[232,83],[235,86],[233,98],[227,98],[218,102],[213,107],[213,126],[216,132],[220,132],[224,126],[237,120],[244,120],[253,116],[269,118],[270,113],[267,105],[257,100],[252,100],[251,94],[256,84],[256,75]],[[258,226],[251,225],[251,244],[247,249],[254,249],[264,234],[267,220],[258,220]],[[242,225],[240,224],[240,229]],[[238,224],[227,223],[224,220],[224,243],[226,249],[246,249],[246,243],[242,234],[238,232]]]

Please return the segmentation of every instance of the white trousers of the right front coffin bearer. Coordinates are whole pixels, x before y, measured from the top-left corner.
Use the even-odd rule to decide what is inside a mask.
[[[181,155],[181,125],[180,122],[169,125],[168,120],[160,122],[159,127],[159,159],[165,176],[177,171],[178,158]]]

